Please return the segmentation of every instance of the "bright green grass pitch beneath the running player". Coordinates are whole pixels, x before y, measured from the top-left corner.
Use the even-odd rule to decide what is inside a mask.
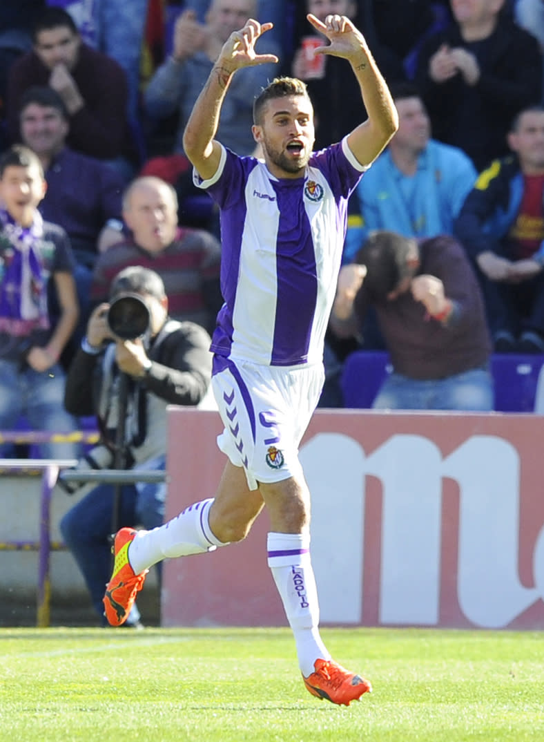
[[[312,697],[291,632],[0,630],[1,742],[543,742],[537,632],[333,629],[365,674],[349,708]]]

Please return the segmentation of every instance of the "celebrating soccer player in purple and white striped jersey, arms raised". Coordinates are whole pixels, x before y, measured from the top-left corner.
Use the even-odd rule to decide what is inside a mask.
[[[322,33],[318,53],[348,60],[368,119],[313,152],[314,116],[305,84],[275,79],[253,105],[253,137],[263,160],[238,157],[215,137],[236,70],[271,62],[256,39],[271,23],[250,19],[222,47],[185,128],[195,182],[219,204],[222,292],[211,349],[213,392],[228,456],[216,496],[160,528],[116,533],[105,593],[113,626],[122,624],[147,569],[166,557],[212,551],[243,539],[266,505],[268,564],[293,630],[308,691],[346,706],[368,680],[331,659],[319,636],[310,559],[310,493],[299,441],[321,393],[323,343],[345,236],[347,201],[362,173],[397,129],[397,111],[365,39],[345,16],[308,21]],[[326,44],[328,40],[328,45]]]

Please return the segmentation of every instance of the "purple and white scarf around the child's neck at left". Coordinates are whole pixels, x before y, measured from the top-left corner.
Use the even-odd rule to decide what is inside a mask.
[[[43,220],[36,212],[30,227],[22,227],[0,209],[0,332],[15,337],[47,329],[47,281],[39,241]]]

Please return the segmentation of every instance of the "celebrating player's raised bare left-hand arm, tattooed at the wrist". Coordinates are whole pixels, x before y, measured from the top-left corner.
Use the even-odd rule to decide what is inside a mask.
[[[196,99],[183,134],[183,148],[204,179],[212,177],[219,165],[220,148],[214,137],[233,74],[242,67],[278,61],[274,54],[255,52],[256,40],[272,26],[271,23],[260,24],[249,19],[243,28],[231,33],[213,65],[208,82]]]

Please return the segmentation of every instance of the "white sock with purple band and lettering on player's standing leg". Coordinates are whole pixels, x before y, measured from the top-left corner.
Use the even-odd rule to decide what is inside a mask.
[[[268,533],[267,546],[268,566],[295,637],[299,668],[308,677],[314,672],[317,659],[331,659],[319,636],[319,602],[310,560],[310,536]]]

